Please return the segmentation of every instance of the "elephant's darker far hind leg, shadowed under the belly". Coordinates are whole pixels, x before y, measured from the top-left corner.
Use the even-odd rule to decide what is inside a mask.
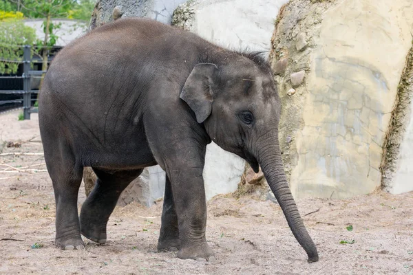
[[[96,243],[106,243],[106,225],[125,188],[143,169],[108,173],[93,169],[98,179],[81,210],[81,233]]]

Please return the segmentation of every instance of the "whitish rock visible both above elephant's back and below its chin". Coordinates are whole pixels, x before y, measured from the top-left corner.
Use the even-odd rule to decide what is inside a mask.
[[[176,9],[172,22],[226,48],[268,51],[275,17],[287,1],[188,1]],[[209,144],[203,174],[207,199],[237,190],[244,166],[240,157]]]

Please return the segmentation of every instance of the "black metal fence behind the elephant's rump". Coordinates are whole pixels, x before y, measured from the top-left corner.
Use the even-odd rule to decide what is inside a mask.
[[[37,113],[34,107],[39,89],[32,89],[34,80],[39,80],[45,72],[30,70],[33,62],[30,45],[23,47],[23,61],[0,61],[23,64],[21,76],[0,76],[0,111],[23,108],[23,119],[30,120],[30,113]]]

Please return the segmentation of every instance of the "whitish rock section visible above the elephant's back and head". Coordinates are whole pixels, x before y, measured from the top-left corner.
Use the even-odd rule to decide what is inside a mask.
[[[274,21],[288,0],[188,1],[173,14],[173,25],[235,50],[271,48]]]

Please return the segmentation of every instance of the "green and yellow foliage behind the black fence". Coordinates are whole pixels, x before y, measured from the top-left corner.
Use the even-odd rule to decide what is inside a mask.
[[[47,52],[56,45],[58,37],[53,18],[89,21],[96,0],[0,0],[0,74],[17,72],[23,56],[23,47],[36,45],[32,54],[43,59],[42,69],[47,69]],[[36,39],[35,31],[25,26],[21,19],[43,18],[42,39]]]

